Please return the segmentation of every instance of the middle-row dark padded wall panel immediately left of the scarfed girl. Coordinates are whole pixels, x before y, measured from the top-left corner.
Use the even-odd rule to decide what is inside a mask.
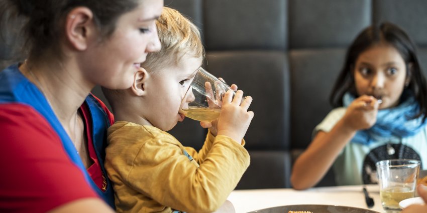
[[[329,113],[329,95],[344,64],[345,49],[292,50],[292,148],[306,148],[311,133]]]

